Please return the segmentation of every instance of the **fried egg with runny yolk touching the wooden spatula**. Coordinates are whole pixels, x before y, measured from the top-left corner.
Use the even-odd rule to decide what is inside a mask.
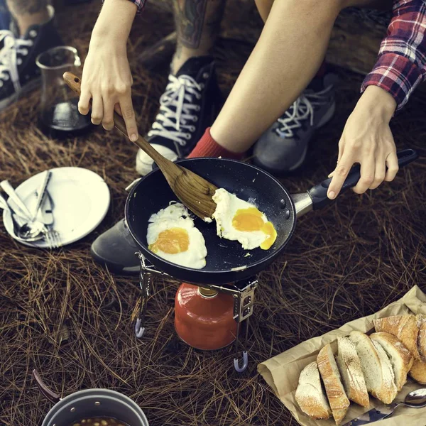
[[[239,241],[245,250],[271,248],[277,232],[254,204],[240,200],[223,188],[216,190],[213,201],[217,204],[213,219],[216,220],[218,236]]]

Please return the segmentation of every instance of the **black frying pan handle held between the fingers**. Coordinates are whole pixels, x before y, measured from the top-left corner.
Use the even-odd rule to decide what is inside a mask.
[[[417,151],[414,151],[413,149],[403,149],[402,151],[398,151],[396,155],[398,156],[398,165],[400,168],[416,160],[419,156]],[[360,169],[361,166],[359,164],[354,165],[354,167],[351,168],[351,171],[344,181],[342,190],[340,192],[348,190],[358,183],[359,179],[361,178]],[[308,191],[310,197],[312,198],[312,205],[314,210],[321,209],[322,207],[325,207],[328,204],[334,202],[334,200],[330,200],[329,197],[327,197],[327,191],[330,182],[332,182],[332,178],[324,180]]]

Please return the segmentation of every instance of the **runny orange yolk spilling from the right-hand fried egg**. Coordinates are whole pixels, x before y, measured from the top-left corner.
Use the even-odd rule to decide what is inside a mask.
[[[262,231],[267,235],[267,238],[261,244],[261,249],[268,250],[277,238],[277,231],[271,222],[263,222],[262,213],[256,207],[248,209],[238,209],[232,218],[232,226],[237,231],[253,232]]]

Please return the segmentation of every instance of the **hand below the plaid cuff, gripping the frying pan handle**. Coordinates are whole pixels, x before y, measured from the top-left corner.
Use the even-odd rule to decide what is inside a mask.
[[[385,90],[368,86],[349,119],[339,141],[339,156],[327,195],[339,195],[354,163],[361,164],[361,179],[354,192],[362,194],[376,189],[384,181],[391,182],[398,173],[398,157],[389,121],[396,102]],[[386,170],[386,167],[388,170]]]

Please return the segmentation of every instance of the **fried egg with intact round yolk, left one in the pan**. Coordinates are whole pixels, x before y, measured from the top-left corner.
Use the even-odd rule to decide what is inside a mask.
[[[204,237],[195,228],[187,208],[171,202],[149,218],[146,241],[148,249],[166,261],[188,268],[206,266],[207,249]]]

